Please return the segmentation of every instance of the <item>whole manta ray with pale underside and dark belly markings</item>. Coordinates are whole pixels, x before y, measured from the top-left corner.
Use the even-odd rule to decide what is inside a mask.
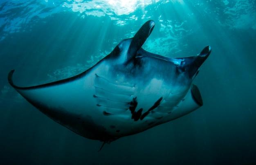
[[[150,53],[141,46],[154,26],[147,21],[79,75],[20,87],[13,84],[11,70],[9,84],[49,118],[103,144],[177,119],[203,105],[192,82],[211,47],[183,58]]]

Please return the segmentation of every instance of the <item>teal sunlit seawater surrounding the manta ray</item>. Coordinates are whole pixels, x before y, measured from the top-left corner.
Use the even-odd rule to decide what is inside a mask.
[[[81,73],[147,20],[143,48],[168,57],[212,53],[194,84],[204,105],[106,144],[52,121],[7,82],[43,84]],[[256,163],[254,0],[0,0],[0,164]]]

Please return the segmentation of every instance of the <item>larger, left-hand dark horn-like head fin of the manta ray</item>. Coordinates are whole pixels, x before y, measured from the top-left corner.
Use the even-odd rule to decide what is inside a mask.
[[[141,48],[144,42],[146,42],[147,38],[152,33],[154,27],[155,22],[153,20],[149,20],[141,26],[141,28],[134,35],[130,43],[128,49],[128,59],[136,56],[137,51]]]

